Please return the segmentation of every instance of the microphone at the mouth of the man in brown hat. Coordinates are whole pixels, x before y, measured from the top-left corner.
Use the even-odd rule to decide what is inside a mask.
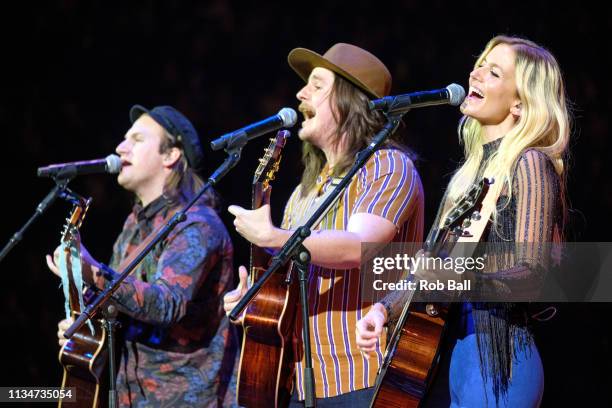
[[[244,146],[249,140],[282,128],[289,128],[297,122],[297,113],[291,108],[283,108],[276,115],[270,116],[261,122],[243,127],[227,133],[212,142],[213,150],[231,149],[236,146]]]

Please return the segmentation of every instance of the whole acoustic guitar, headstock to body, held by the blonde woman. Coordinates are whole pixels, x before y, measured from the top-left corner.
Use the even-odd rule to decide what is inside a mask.
[[[442,228],[430,231],[425,243],[429,256],[446,258],[453,256],[457,243],[478,242],[489,220],[490,213],[481,216],[480,212],[491,183],[483,179],[472,186],[447,213]],[[474,234],[469,232],[470,226]],[[404,305],[388,341],[370,407],[419,407],[435,376],[451,307],[440,303],[412,303],[413,295]]]

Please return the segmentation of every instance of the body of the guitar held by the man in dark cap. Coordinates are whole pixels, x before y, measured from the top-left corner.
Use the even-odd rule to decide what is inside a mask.
[[[73,314],[73,317],[74,316]],[[106,330],[98,320],[92,335],[84,325],[64,344],[59,361],[64,367],[62,388],[76,389],[76,402],[60,402],[60,407],[98,408],[108,406]]]

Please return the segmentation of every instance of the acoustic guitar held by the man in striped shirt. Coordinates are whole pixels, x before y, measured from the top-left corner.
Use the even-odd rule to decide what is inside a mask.
[[[270,202],[270,180],[278,170],[280,151],[289,136],[286,130],[271,139],[255,172],[252,208]],[[270,263],[271,255],[251,245],[251,279],[257,280]],[[299,291],[286,279],[291,265],[279,269],[262,286],[246,308],[237,397],[241,406],[284,407],[289,404],[295,372],[293,331]]]

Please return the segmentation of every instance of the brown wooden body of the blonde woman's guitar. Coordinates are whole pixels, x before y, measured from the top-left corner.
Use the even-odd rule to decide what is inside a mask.
[[[376,383],[372,407],[413,408],[423,399],[435,375],[449,313],[446,305],[428,304],[426,309],[429,314],[411,305],[397,342],[388,345],[394,357],[381,367],[384,381]]]

